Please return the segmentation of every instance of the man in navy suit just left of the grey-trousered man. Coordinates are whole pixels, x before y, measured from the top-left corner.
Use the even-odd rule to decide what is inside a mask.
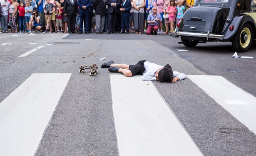
[[[84,24],[85,24],[85,34],[89,34],[89,13],[90,13],[91,0],[78,0],[77,5],[79,6],[79,14],[80,14],[79,34],[83,33]]]

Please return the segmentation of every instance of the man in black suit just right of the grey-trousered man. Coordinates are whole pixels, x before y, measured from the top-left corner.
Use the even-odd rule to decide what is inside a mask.
[[[108,34],[117,33],[115,31],[116,22],[117,22],[117,14],[120,14],[120,0],[107,0],[106,4],[108,5],[107,13],[108,13]]]

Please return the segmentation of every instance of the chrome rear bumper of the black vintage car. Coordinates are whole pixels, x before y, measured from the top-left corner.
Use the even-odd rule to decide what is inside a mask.
[[[193,37],[205,37],[208,39],[224,39],[224,35],[218,35],[218,34],[210,34],[210,32],[207,33],[198,33],[198,32],[170,32],[170,35],[179,35],[179,36],[193,36]]]

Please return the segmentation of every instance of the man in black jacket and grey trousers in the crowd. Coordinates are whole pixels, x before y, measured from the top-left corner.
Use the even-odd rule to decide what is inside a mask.
[[[105,0],[94,0],[93,7],[95,10],[96,18],[96,33],[104,33],[103,28],[105,24],[105,12],[106,12],[106,3]]]

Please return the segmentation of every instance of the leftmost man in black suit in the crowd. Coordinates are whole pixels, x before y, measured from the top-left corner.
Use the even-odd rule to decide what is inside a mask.
[[[75,31],[76,17],[78,14],[77,0],[66,0],[63,12],[67,15],[68,33],[77,33]]]

